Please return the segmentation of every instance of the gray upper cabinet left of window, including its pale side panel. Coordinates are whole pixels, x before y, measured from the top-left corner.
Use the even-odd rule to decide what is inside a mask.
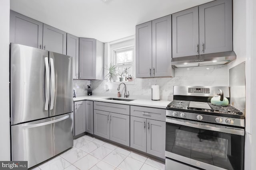
[[[79,38],[79,79],[104,79],[104,43]]]

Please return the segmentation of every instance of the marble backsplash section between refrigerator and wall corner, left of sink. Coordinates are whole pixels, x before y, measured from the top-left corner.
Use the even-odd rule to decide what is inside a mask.
[[[87,85],[90,84],[90,80],[73,80],[73,89],[75,89],[76,96],[87,95]]]

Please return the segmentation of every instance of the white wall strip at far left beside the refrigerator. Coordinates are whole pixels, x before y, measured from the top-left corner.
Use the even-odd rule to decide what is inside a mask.
[[[9,21],[10,0],[0,1],[0,160],[10,160],[9,111]]]

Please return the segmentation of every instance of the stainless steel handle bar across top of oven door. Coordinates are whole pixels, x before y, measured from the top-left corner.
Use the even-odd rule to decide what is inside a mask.
[[[178,121],[178,120],[169,119],[169,118],[166,118],[166,122],[174,123],[174,124],[178,124],[178,125],[184,125],[184,126],[188,126],[188,127],[194,127],[194,128],[198,128],[198,129],[205,129],[205,130],[209,130],[209,131],[217,131],[217,132],[230,133],[230,134],[234,134],[234,135],[244,136],[244,129],[238,129],[238,128],[234,129],[232,127],[213,127],[213,126],[208,126],[205,124],[199,124],[198,122],[190,123],[187,121]]]

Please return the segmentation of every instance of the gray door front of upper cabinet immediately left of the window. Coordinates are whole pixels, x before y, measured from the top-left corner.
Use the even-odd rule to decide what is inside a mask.
[[[79,38],[79,78],[96,78],[96,39]]]

